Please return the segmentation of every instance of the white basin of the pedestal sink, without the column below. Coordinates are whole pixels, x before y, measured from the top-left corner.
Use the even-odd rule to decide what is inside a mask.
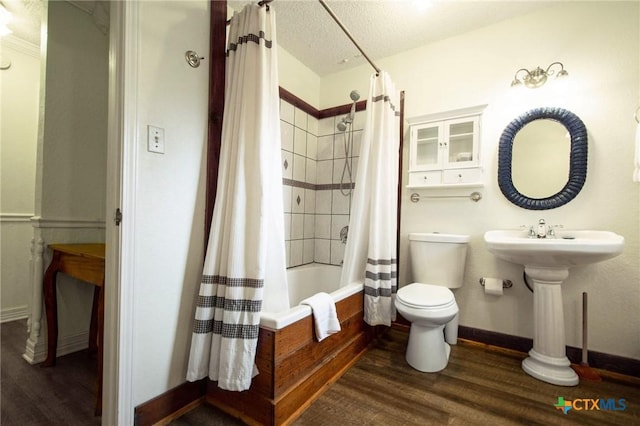
[[[500,259],[525,266],[586,265],[622,252],[624,237],[609,231],[558,230],[555,238],[529,238],[526,230],[488,231],[487,249]]]

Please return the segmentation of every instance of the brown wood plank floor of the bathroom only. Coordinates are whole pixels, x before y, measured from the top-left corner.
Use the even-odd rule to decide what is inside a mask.
[[[445,370],[421,373],[404,359],[407,338],[404,330],[389,330],[293,424],[640,425],[638,378],[601,372],[601,382],[554,386],[522,371],[525,354],[466,341],[452,348]],[[572,409],[565,415],[554,407],[559,397],[624,399],[626,409]],[[242,423],[203,405],[171,424]]]

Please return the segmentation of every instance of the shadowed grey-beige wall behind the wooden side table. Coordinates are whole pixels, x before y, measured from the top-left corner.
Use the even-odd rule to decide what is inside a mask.
[[[40,77],[33,238],[44,244],[104,241],[109,36],[68,2],[49,2]],[[37,248],[36,248],[37,251]],[[42,285],[34,271],[34,294]],[[93,287],[58,277],[58,354],[87,346]],[[34,317],[37,320],[34,307]],[[46,353],[44,334],[32,330]],[[29,347],[29,342],[27,346]]]

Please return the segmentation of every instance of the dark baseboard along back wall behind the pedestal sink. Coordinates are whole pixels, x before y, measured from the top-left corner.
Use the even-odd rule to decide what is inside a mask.
[[[524,353],[529,352],[533,347],[533,339],[465,326],[458,328],[458,337]],[[582,349],[567,346],[567,358],[569,358],[569,361],[573,364],[580,364]],[[627,376],[640,377],[640,360],[637,359],[588,351],[588,361],[589,366],[593,368],[612,371]]]

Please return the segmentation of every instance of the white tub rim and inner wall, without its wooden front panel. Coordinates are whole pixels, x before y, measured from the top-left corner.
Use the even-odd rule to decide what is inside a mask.
[[[312,263],[287,270],[289,284],[288,310],[282,312],[262,312],[260,327],[279,330],[294,322],[311,315],[311,308],[300,305],[300,302],[316,293],[331,294],[337,303],[355,293],[362,291],[362,283],[352,283],[340,287],[342,268],[334,265]]]

